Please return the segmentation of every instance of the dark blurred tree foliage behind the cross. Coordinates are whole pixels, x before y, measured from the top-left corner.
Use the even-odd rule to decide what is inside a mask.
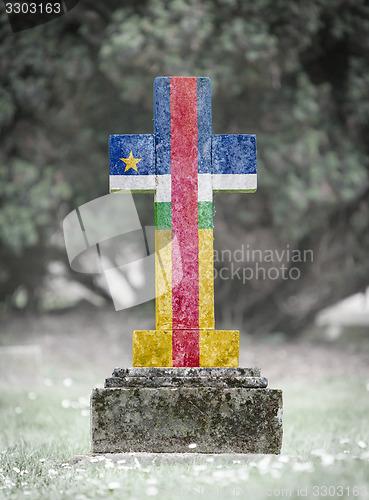
[[[210,76],[213,132],[257,134],[258,191],[216,195],[215,248],[314,255],[286,262],[298,280],[217,279],[218,325],[293,335],[366,288],[365,0],[81,0],[16,34],[2,13],[0,39],[3,311],[40,311],[55,262],[106,294],[69,270],[61,224],[108,192],[109,134],[152,133],[160,75]],[[152,213],[152,197],[139,204]]]

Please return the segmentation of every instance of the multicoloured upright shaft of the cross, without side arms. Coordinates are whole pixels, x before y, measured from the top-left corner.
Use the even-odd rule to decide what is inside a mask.
[[[156,252],[173,237],[177,243],[171,252],[173,286],[163,295],[165,271],[157,261],[156,328],[173,332],[174,366],[198,366],[199,328],[214,328],[212,203],[206,201],[209,220],[204,221],[204,202],[199,202],[199,170],[210,167],[211,119],[201,116],[211,112],[202,102],[206,97],[210,101],[210,81],[205,78],[156,81],[155,109],[158,101],[169,107],[155,115],[157,163],[163,166],[157,171]],[[161,201],[165,189],[166,199],[170,192],[167,206]],[[211,186],[209,192],[211,196]]]

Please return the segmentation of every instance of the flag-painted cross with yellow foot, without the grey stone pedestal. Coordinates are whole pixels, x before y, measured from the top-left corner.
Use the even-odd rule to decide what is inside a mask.
[[[121,190],[155,192],[156,330],[134,332],[133,366],[238,366],[239,332],[215,330],[213,191],[256,191],[256,137],[212,135],[209,78],[156,78],[154,134],[110,136]]]

